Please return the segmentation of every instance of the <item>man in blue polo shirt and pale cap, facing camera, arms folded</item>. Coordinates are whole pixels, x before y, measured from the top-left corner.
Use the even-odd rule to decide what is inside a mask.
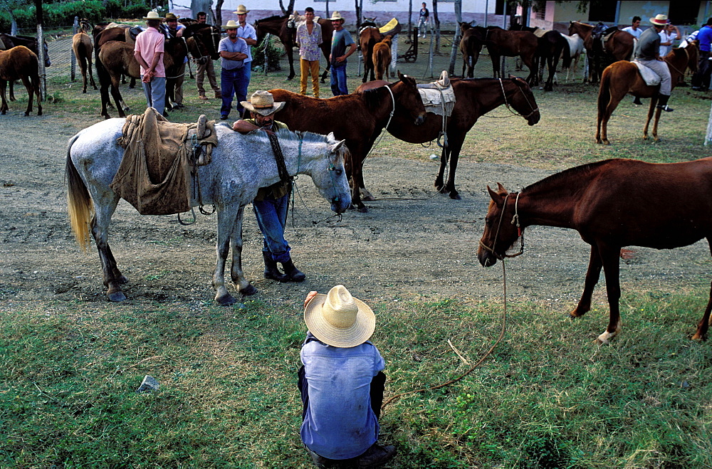
[[[220,93],[222,95],[220,119],[226,120],[230,115],[233,95],[238,94],[239,96],[241,90],[247,89],[244,60],[249,57],[250,47],[244,39],[237,37],[238,25],[234,20],[228,21],[223,28],[227,31],[227,37],[222,38],[218,45],[222,65],[220,72]],[[242,117],[244,109],[239,99],[236,108]]]

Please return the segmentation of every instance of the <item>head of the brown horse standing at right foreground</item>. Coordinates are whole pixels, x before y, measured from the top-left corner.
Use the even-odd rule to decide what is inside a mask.
[[[477,258],[484,267],[495,265],[498,259],[513,257],[508,255],[507,251],[522,235],[522,228],[517,226],[519,194],[508,193],[499,183],[497,191],[490,189],[490,186],[487,186],[487,190],[492,200],[487,209],[485,231],[477,250]]]

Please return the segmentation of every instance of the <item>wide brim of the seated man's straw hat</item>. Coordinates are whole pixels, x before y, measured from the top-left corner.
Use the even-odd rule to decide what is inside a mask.
[[[365,302],[354,298],[358,306],[356,322],[351,327],[341,329],[330,325],[321,314],[321,307],[327,295],[316,295],[304,308],[304,322],[314,337],[325,344],[347,349],[366,342],[376,329],[376,316]]]

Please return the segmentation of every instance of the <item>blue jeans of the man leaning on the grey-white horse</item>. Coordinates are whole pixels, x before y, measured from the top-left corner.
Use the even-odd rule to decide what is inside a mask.
[[[252,208],[257,218],[257,224],[262,231],[262,251],[271,253],[276,262],[289,262],[289,245],[284,239],[284,227],[287,224],[287,209],[289,207],[289,194],[279,199],[265,199],[252,201]]]

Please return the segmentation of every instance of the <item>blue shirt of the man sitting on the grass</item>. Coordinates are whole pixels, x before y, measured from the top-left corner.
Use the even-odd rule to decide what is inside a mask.
[[[318,340],[300,352],[309,402],[300,431],[313,452],[329,459],[362,455],[378,439],[371,381],[385,364],[371,342],[342,349]]]

